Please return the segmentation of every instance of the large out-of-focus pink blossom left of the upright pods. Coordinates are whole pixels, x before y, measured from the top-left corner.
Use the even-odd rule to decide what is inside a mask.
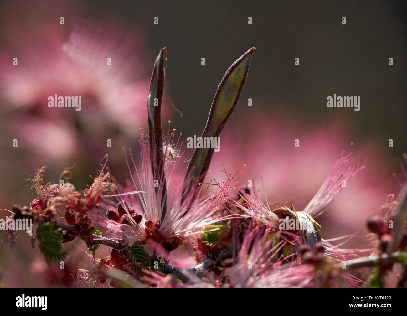
[[[109,128],[131,134],[138,118],[144,119],[140,110],[149,87],[140,34],[114,23],[73,20],[69,35],[70,26],[56,23],[36,21],[31,29],[7,25],[7,49],[0,52],[2,128],[24,139],[19,146],[54,159],[89,147],[87,139]],[[81,111],[48,108],[55,94],[81,96]]]

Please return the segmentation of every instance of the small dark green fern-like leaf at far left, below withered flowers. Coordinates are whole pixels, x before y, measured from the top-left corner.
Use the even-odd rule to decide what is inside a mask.
[[[60,244],[62,241],[62,228],[56,228],[53,223],[45,223],[37,228],[38,247],[43,253],[46,262],[59,261],[65,258],[66,253]]]

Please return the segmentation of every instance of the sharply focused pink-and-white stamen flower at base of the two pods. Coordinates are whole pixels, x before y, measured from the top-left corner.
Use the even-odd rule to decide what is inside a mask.
[[[198,193],[191,190],[185,202],[181,202],[182,183],[174,183],[172,178],[175,167],[182,161],[183,154],[179,150],[182,147],[180,137],[181,135],[175,140],[173,133],[167,136],[162,147],[166,157],[164,166],[166,182],[158,182],[151,170],[150,148],[145,144],[146,137],[140,134],[141,170],[136,167],[130,153],[130,162],[136,171],[136,178],[131,176],[131,186],[127,190],[120,189],[116,183],[117,194],[106,196],[105,207],[113,206],[118,209],[117,213],[114,210],[107,211],[106,215],[98,210],[90,213],[92,221],[106,232],[104,236],[129,243],[145,243],[149,239],[158,243],[168,241],[177,243],[181,237],[197,234],[206,226],[228,218],[219,216],[219,213],[215,214],[224,202],[224,195],[220,190],[215,193],[204,193],[203,186],[200,186]],[[129,172],[133,173],[129,164],[128,167]],[[166,213],[163,217],[164,204],[160,197],[165,183],[169,190],[166,195]],[[204,194],[196,198],[199,193]],[[110,202],[111,197],[116,197],[120,202],[118,206]]]

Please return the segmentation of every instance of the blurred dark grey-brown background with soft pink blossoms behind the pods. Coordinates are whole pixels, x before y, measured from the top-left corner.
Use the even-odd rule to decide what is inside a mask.
[[[366,217],[380,212],[387,194],[398,194],[392,172],[406,180],[400,167],[407,151],[406,3],[0,2],[0,208],[28,205],[33,192],[26,180],[42,166],[53,182],[70,167],[70,182],[83,190],[108,154],[109,168],[123,183],[129,173],[122,148],[137,152],[139,128],[148,127],[147,92],[162,47],[168,48],[162,121],[171,119],[185,140],[201,134],[225,70],[254,46],[239,105],[207,179],[222,180],[222,162],[230,173],[246,164],[242,184],[254,178],[268,199],[290,200],[301,210],[353,141],[355,163],[366,169],[318,222],[326,239],[362,228],[361,238],[348,244],[366,247]],[[334,93],[360,96],[361,110],[327,108],[326,97]],[[82,96],[82,110],[48,108],[54,94]],[[186,158],[191,154],[186,151]],[[66,244],[72,266],[61,273],[37,248],[29,249],[28,236],[20,239],[10,251],[0,232],[2,285],[72,285],[70,272],[89,262]]]

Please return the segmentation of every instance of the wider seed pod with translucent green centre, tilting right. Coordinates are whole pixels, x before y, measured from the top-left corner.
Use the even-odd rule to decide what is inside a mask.
[[[208,121],[201,136],[203,139],[205,139],[204,137],[219,137],[223,127],[236,108],[243,86],[245,85],[254,49],[254,47],[250,48],[237,59],[223,76],[213,99]],[[182,202],[185,201],[191,190],[195,190],[199,181],[203,180],[206,171],[209,169],[213,153],[214,148],[195,149],[186,170]]]

